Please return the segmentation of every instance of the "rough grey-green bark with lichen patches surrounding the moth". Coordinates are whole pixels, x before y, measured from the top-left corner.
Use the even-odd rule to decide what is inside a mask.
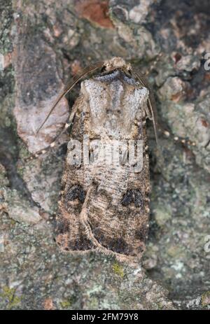
[[[1,308],[208,309],[209,1],[0,0],[0,11]],[[160,133],[158,149],[148,127],[151,224],[137,268],[57,248],[64,144],[21,164],[62,129],[79,85],[34,132],[62,84],[113,56],[150,71],[172,134]]]

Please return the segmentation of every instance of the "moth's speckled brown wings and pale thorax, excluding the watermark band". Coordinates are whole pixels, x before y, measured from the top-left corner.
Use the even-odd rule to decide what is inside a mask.
[[[64,251],[97,250],[118,260],[141,258],[148,235],[149,161],[145,106],[148,89],[122,69],[83,81],[57,214],[57,244]],[[127,164],[69,164],[72,140],[142,140],[143,168]]]

